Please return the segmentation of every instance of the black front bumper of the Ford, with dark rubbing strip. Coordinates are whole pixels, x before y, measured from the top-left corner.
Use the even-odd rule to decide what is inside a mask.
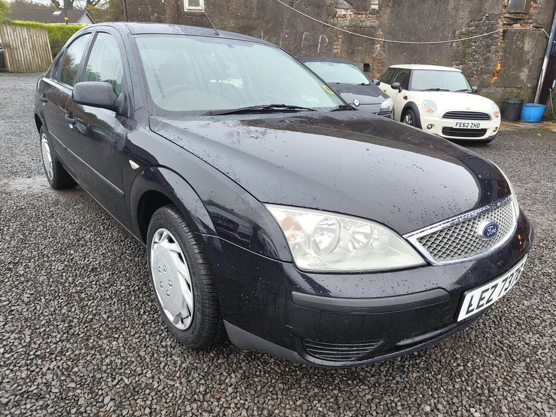
[[[517,264],[532,245],[533,231],[522,213],[512,239],[483,259],[366,274],[306,273],[215,236],[203,237],[236,346],[302,364],[347,367],[421,349],[468,326],[485,310],[456,321],[463,293]],[[314,354],[320,345],[353,350],[371,342],[376,346],[356,359]]]

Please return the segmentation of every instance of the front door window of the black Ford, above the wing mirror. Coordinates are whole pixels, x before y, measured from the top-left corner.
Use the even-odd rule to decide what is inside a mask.
[[[122,80],[123,65],[120,47],[111,34],[100,32],[91,49],[83,81],[109,82],[114,86],[116,93],[120,94]]]

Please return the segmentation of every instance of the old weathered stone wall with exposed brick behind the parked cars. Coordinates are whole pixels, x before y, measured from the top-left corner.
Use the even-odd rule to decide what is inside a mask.
[[[209,26],[203,13],[186,12],[178,1],[178,21]],[[555,0],[529,0],[527,13],[507,13],[508,0],[286,0],[320,21],[379,39],[431,42],[461,39],[502,28],[550,31]],[[132,21],[175,22],[173,0],[127,0]],[[396,63],[461,68],[480,94],[533,101],[547,37],[541,31],[504,31],[440,44],[386,43],[315,22],[275,0],[205,0],[220,29],[280,45],[295,56],[350,59],[370,77],[380,78]]]

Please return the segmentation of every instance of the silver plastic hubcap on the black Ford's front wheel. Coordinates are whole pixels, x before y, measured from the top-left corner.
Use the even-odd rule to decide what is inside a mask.
[[[180,245],[166,229],[152,237],[151,271],[162,310],[177,329],[187,329],[193,321],[191,275]]]

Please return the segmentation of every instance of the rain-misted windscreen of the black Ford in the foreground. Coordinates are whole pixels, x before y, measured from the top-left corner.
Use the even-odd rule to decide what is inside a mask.
[[[330,87],[276,47],[184,35],[135,40],[148,94],[163,111],[203,115],[270,104],[318,111],[344,105]]]

